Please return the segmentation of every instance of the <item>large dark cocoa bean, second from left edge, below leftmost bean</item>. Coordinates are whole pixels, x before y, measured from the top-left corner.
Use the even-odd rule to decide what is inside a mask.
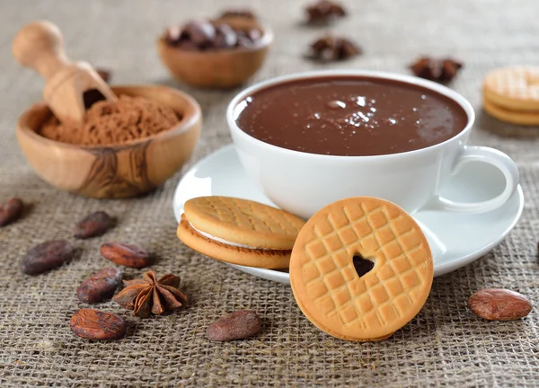
[[[73,247],[66,240],[42,242],[24,255],[19,265],[27,275],[39,275],[73,258]]]

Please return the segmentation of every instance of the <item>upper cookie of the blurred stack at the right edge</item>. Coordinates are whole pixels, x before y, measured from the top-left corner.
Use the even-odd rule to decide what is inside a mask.
[[[539,114],[539,67],[503,67],[490,72],[484,79],[483,96],[504,110]]]

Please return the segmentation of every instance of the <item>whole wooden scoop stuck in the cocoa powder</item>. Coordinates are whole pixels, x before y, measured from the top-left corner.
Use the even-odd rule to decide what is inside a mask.
[[[116,101],[116,95],[86,62],[71,62],[64,39],[51,22],[32,22],[13,39],[13,56],[46,80],[43,98],[60,121],[82,122],[93,102]]]

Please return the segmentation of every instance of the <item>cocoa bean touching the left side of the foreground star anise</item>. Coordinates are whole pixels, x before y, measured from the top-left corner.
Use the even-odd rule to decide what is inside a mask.
[[[121,271],[106,268],[94,273],[77,288],[76,295],[83,303],[94,304],[110,299],[121,283]]]

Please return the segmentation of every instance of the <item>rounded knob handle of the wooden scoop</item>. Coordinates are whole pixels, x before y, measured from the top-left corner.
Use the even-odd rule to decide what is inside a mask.
[[[39,21],[27,24],[13,40],[13,57],[22,66],[32,67],[46,80],[70,65],[64,38],[57,26]]]

